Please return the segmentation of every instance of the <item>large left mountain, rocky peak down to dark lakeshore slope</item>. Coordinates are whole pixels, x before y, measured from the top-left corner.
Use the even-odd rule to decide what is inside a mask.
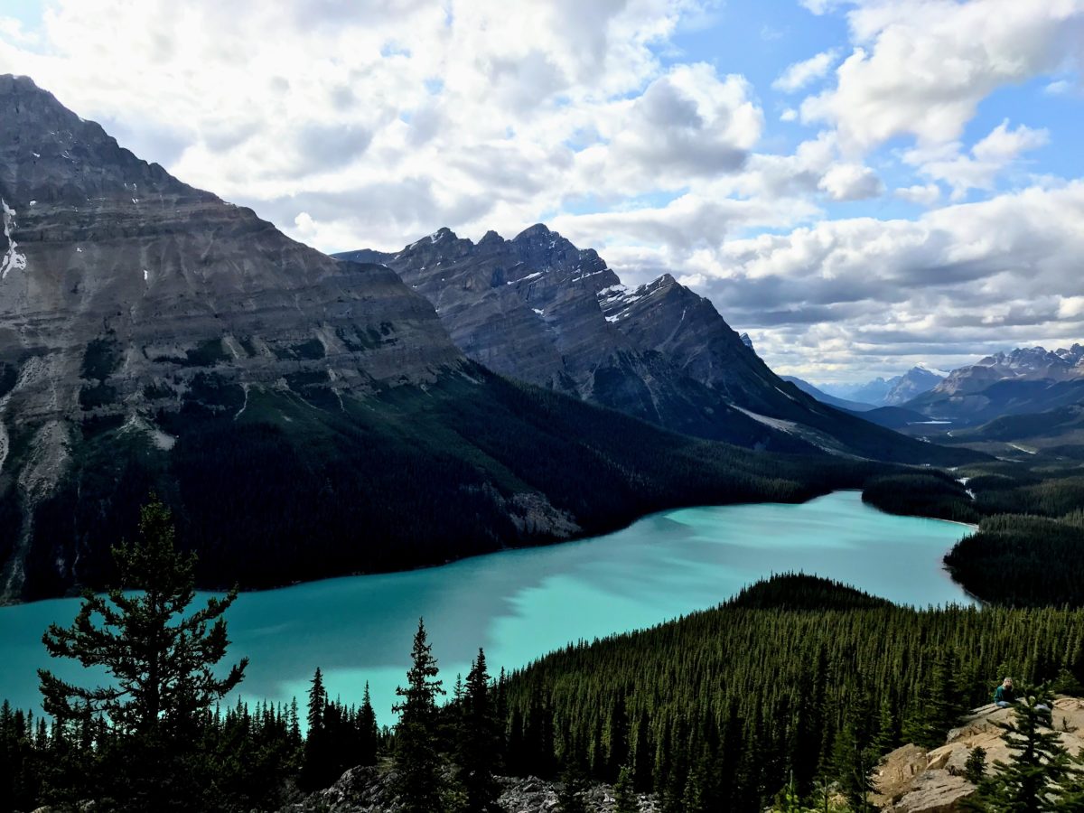
[[[188,186],[29,79],[0,77],[0,602],[112,578],[109,545],[152,488],[201,584],[269,586],[673,505],[803,500],[878,468],[514,384],[387,267],[333,260]],[[750,443],[775,433],[737,414]]]

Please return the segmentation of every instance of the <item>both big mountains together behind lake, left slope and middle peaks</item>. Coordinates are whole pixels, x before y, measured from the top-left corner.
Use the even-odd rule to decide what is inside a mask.
[[[201,584],[268,586],[973,456],[817,403],[702,297],[544,227],[335,260],[27,78],[0,111],[0,602],[101,585],[151,488]]]

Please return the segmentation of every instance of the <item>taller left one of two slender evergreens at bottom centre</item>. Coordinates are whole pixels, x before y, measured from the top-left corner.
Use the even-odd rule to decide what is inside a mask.
[[[393,707],[400,714],[396,726],[396,789],[406,813],[440,813],[444,810],[444,780],[438,751],[437,696],[444,691],[441,681],[436,680],[437,660],[422,619],[411,661],[406,686],[396,688],[403,698]]]

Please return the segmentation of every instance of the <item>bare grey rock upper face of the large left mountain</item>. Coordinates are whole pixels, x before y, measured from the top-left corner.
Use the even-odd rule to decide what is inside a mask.
[[[96,428],[168,449],[156,416],[196,404],[334,402],[464,363],[389,269],[178,181],[25,77],[0,77],[0,601],[23,592],[34,506]],[[50,554],[61,582],[78,556]]]

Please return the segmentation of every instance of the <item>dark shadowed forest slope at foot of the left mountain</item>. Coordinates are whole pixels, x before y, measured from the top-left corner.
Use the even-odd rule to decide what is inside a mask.
[[[202,374],[157,416],[177,438],[168,453],[119,421],[88,420],[27,526],[22,597],[112,582],[109,545],[132,537],[149,485],[182,549],[198,552],[202,586],[267,588],[594,534],[669,507],[799,502],[891,470],[673,435],[475,366],[369,400],[326,393],[246,398]],[[2,540],[21,527],[9,490],[0,556],[14,555]]]

